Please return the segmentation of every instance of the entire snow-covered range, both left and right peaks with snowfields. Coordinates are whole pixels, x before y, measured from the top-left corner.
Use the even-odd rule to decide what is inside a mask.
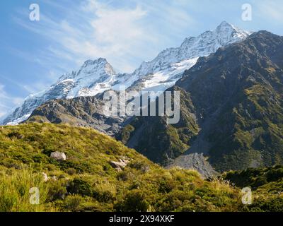
[[[246,39],[251,32],[222,22],[215,30],[198,37],[187,37],[180,47],[163,50],[149,62],[143,62],[133,73],[115,73],[106,59],[88,60],[78,71],[67,73],[47,90],[30,95],[23,105],[15,109],[3,124],[18,124],[27,119],[33,110],[44,102],[59,98],[95,96],[105,90],[164,91],[180,79],[199,57],[216,52],[219,47]]]

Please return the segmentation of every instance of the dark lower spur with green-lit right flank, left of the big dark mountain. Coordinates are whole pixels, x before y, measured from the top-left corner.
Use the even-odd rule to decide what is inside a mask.
[[[134,117],[125,122],[127,126],[116,136],[130,148],[162,165],[184,153],[199,131],[190,95],[178,87],[171,90],[180,91],[178,124],[166,124],[166,117]]]

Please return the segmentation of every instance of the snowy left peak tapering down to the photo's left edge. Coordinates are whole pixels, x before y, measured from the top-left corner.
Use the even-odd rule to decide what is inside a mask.
[[[47,90],[25,98],[23,105],[14,110],[3,124],[18,124],[30,117],[33,110],[48,100],[73,98],[79,96],[96,95],[96,84],[101,81],[110,81],[115,71],[106,59],[88,60],[78,71],[72,71],[59,78]],[[100,91],[103,88],[100,87]],[[99,92],[98,92],[99,93]]]

